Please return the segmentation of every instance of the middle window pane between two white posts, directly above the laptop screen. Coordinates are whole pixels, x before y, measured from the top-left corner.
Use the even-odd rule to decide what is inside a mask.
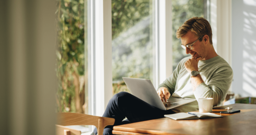
[[[112,0],[113,94],[122,77],[153,80],[152,0]]]

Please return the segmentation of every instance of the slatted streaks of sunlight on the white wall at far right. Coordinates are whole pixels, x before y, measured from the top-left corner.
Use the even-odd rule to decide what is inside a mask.
[[[256,0],[244,0],[243,93],[256,97]]]

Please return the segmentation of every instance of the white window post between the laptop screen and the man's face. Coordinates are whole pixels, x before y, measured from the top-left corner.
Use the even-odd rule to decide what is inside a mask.
[[[171,0],[155,0],[155,68],[154,86],[172,74],[172,6]]]

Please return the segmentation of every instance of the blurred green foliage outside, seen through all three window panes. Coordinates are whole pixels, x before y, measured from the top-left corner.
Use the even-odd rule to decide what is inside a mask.
[[[122,77],[153,79],[154,0],[112,0],[113,94],[128,91]],[[203,17],[204,0],[172,0],[173,69],[187,56],[176,31],[188,18]],[[87,0],[57,0],[58,112],[88,111]]]

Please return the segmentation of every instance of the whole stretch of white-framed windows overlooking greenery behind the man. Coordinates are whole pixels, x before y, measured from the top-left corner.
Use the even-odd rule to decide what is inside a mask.
[[[120,91],[128,91],[122,77],[150,79],[157,87],[166,78],[165,74],[171,74],[171,72],[159,72],[163,71],[157,67],[159,63],[167,63],[168,61],[160,62],[157,60],[162,60],[163,57],[167,60],[168,58],[172,59],[170,58],[171,53],[169,53],[172,52],[173,63],[168,63],[170,65],[168,66],[171,67],[171,64],[173,64],[173,69],[175,69],[177,63],[186,56],[184,50],[180,47],[180,40],[176,38],[175,32],[188,18],[204,16],[204,1],[206,0],[172,0],[172,11],[167,10],[171,5],[170,1],[166,1],[168,2],[167,6],[165,6],[164,1],[59,0],[57,2],[58,49],[56,51],[56,71],[59,78],[56,94],[57,111],[92,115],[99,112],[97,115],[100,115],[111,98],[110,95]],[[106,18],[104,18],[106,17],[105,10],[108,8],[102,8],[102,5],[108,6],[108,4],[111,5],[112,13],[112,18],[108,17],[112,19],[112,26],[109,25],[112,27],[112,52],[107,52],[107,54],[104,52],[102,57],[98,56],[102,50],[98,50],[110,45],[108,41],[99,42],[102,35],[104,39],[110,39],[106,35],[111,31],[103,31],[101,28],[101,22],[103,22],[104,28],[108,27],[105,23]],[[164,10],[162,10],[163,7],[165,7]],[[166,14],[165,16],[163,16],[163,12]],[[172,16],[169,16],[171,12]],[[165,47],[171,45],[167,41],[162,42],[162,36],[159,36],[163,33],[162,30],[171,31],[170,28],[167,30],[167,26],[171,24],[170,21],[166,21],[165,26],[162,27],[162,20],[167,17],[173,18],[173,51],[167,51],[164,54],[165,56],[162,56],[159,50],[162,48],[164,48],[162,50],[165,50]],[[110,21],[107,20],[107,22]],[[164,36],[167,38],[170,37],[169,35]],[[104,44],[104,47],[101,46],[102,44]],[[165,47],[159,47],[160,44]],[[167,54],[170,56],[167,56]],[[106,92],[109,89],[106,89],[108,86],[105,87],[105,85],[108,85],[108,81],[106,81],[108,79],[106,78],[109,75],[104,74],[105,78],[102,79],[100,74],[110,69],[106,66],[106,63],[110,63],[105,61],[104,57],[106,55],[112,55],[112,93]],[[104,70],[98,65],[103,65]],[[168,66],[165,67],[166,71],[170,69],[167,68]],[[100,69],[97,69],[98,67]],[[161,77],[159,77],[159,74],[161,74]],[[98,81],[99,79],[100,81]],[[99,84],[104,84],[104,87],[99,88]],[[105,92],[103,98],[98,97],[99,99],[97,99],[97,90]],[[108,93],[111,94],[108,95]],[[99,108],[101,108],[100,111]]]

